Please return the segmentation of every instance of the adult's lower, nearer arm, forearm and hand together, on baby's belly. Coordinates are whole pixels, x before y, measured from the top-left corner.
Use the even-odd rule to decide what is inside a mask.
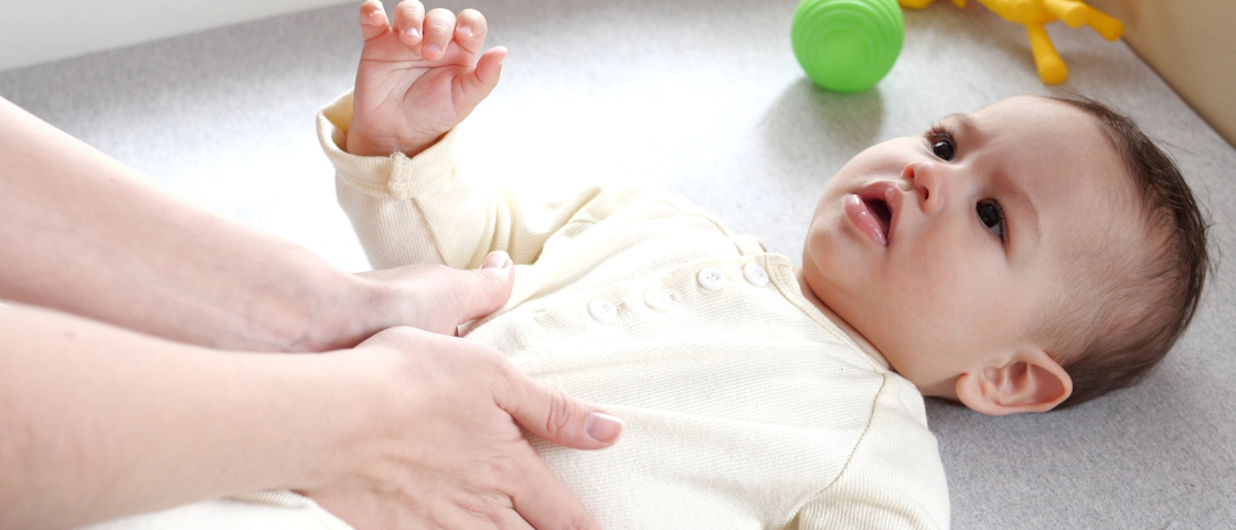
[[[512,269],[431,269],[482,285],[439,304],[444,321],[501,304]],[[331,353],[232,355],[46,309],[2,313],[0,505],[11,509],[0,528],[70,528],[278,488],[362,530],[596,528],[519,425],[602,448],[620,421],[485,346],[396,327]]]

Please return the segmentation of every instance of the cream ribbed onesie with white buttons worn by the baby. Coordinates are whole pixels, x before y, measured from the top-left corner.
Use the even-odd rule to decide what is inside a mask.
[[[665,194],[475,189],[455,132],[410,159],[352,156],[351,115],[347,94],[318,132],[371,263],[471,268],[507,251],[510,300],[464,337],[625,421],[602,451],[534,441],[602,528],[948,528],[922,394],[803,298],[790,259]],[[284,510],[320,510],[300,504]]]

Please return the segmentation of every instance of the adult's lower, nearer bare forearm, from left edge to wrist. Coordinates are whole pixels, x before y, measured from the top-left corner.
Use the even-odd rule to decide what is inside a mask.
[[[210,351],[0,308],[0,529],[316,486],[375,423],[358,404],[378,385],[335,357]]]

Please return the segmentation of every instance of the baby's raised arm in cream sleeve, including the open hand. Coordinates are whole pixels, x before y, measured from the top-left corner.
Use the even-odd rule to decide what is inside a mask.
[[[506,51],[480,53],[487,33],[480,12],[423,10],[404,1],[387,27],[381,4],[361,7],[366,41],[355,94],[318,116],[319,140],[337,170],[339,203],[370,263],[475,268],[492,251],[530,263],[571,220],[608,215],[612,201],[598,201],[608,198],[596,189],[527,204],[459,178],[452,127],[497,84]]]

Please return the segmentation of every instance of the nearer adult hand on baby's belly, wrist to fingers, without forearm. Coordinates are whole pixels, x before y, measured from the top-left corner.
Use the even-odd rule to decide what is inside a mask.
[[[598,529],[540,461],[520,426],[550,442],[603,448],[622,423],[548,389],[501,353],[413,327],[379,332],[344,366],[381,388],[378,421],[341,478],[304,490],[366,529]]]

